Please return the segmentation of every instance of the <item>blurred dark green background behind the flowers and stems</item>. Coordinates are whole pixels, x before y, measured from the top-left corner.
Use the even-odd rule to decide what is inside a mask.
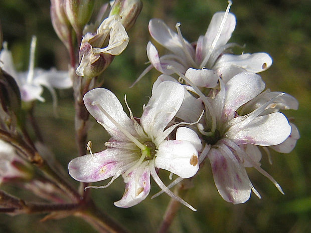
[[[194,42],[205,34],[212,15],[227,7],[225,0],[142,2],[143,10],[128,32],[130,42],[127,49],[104,72],[104,87],[113,91],[123,104],[123,96],[126,94],[128,104],[138,117],[142,112],[142,104],[147,103],[151,95],[152,83],[159,75],[151,71],[132,89],[128,88],[146,67],[145,46],[150,40],[148,21],[161,18],[172,29],[177,22],[181,22],[184,37]],[[67,51],[53,30],[49,11],[50,2],[47,0],[0,1],[4,40],[9,43],[14,62],[20,71],[28,69],[32,35],[38,37],[37,67],[67,69]],[[272,152],[272,165],[265,155],[261,161],[262,168],[279,182],[285,195],[279,193],[255,169],[249,169],[249,177],[262,199],[252,195],[244,204],[227,203],[218,194],[210,164],[206,162],[194,178],[194,187],[185,197],[198,211],[193,212],[182,206],[170,232],[311,232],[311,160],[308,148],[311,145],[311,1],[240,0],[233,1],[230,11],[237,18],[230,42],[245,44],[245,53],[270,54],[273,65],[260,74],[266,86],[272,91],[284,91],[299,101],[297,111],[290,110],[285,114],[295,119],[301,138],[290,154]],[[160,46],[158,49],[160,54],[164,53]],[[237,52],[241,53],[242,50]],[[47,90],[44,93],[47,101],[37,103],[35,116],[46,144],[67,169],[68,162],[77,156],[73,98],[70,90],[59,91],[58,94],[58,118],[53,117],[52,100]],[[93,142],[93,152],[97,152],[104,148],[108,135],[99,124],[92,121],[94,126],[88,139]],[[162,172],[161,175],[167,178],[169,173]],[[78,182],[69,175],[68,180],[78,186]],[[168,179],[165,181],[168,182]],[[150,194],[154,194],[159,187],[154,182],[151,185]],[[15,190],[14,187],[9,189]],[[19,190],[15,191],[19,193]],[[163,194],[150,200],[149,195],[134,207],[117,208],[113,201],[119,200],[123,191],[124,183],[119,178],[107,189],[92,190],[92,196],[101,209],[124,223],[132,232],[156,232],[170,200],[169,196]],[[31,195],[28,196],[31,198]],[[91,226],[75,217],[41,222],[43,216],[0,214],[0,232],[95,232]]]

